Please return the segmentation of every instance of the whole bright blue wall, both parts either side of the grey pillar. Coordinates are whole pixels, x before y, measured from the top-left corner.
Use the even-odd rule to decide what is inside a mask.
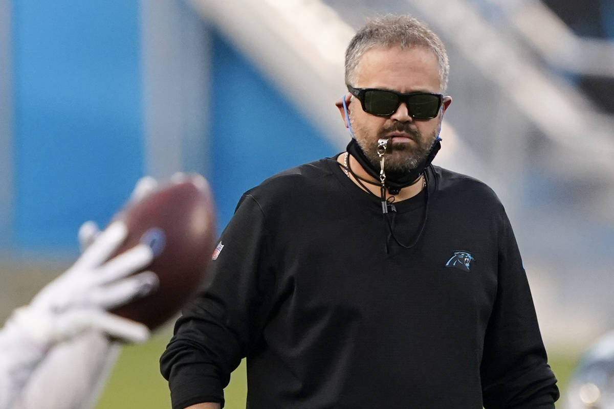
[[[75,251],[80,224],[106,224],[146,172],[139,2],[13,5],[12,242]],[[216,32],[210,57],[210,151],[200,155],[222,229],[241,193],[335,148]]]

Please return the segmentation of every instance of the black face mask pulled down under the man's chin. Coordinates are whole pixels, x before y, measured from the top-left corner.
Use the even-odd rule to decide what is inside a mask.
[[[414,167],[408,172],[386,172],[386,182],[385,186],[390,194],[398,194],[402,188],[413,185],[416,182],[416,179],[420,177],[424,169],[426,169],[430,162],[433,161],[437,152],[441,149],[441,139],[438,137],[433,143],[433,146],[430,148],[429,155],[418,164],[418,166]],[[352,138],[349,141],[348,147],[346,148],[348,153],[360,163],[360,166],[363,167],[367,171],[369,175],[375,178],[375,180],[379,180],[379,162],[372,163],[365,153],[360,148],[356,139]]]

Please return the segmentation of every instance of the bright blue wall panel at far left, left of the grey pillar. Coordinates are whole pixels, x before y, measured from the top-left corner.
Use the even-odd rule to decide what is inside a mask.
[[[136,0],[13,2],[15,242],[76,245],[142,175]]]

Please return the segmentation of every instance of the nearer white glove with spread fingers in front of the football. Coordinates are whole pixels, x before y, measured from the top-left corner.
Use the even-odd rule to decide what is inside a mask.
[[[131,275],[152,261],[153,252],[147,245],[137,245],[108,260],[127,234],[122,222],[114,222],[97,234],[75,264],[45,286],[28,306],[15,310],[10,322],[41,348],[91,329],[130,342],[147,340],[149,329],[144,324],[106,311],[145,296],[158,285],[153,272]]]

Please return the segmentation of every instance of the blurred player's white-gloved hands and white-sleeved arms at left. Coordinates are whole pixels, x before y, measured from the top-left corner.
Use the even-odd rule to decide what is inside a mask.
[[[131,200],[156,185],[142,178]],[[107,311],[158,286],[155,273],[139,272],[153,259],[147,245],[109,259],[127,234],[120,221],[103,232],[85,223],[79,231],[84,253],[7,320],[0,330],[0,409],[93,407],[118,341],[147,340],[147,326]]]

